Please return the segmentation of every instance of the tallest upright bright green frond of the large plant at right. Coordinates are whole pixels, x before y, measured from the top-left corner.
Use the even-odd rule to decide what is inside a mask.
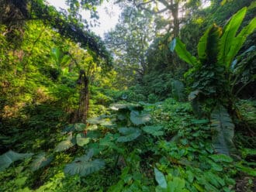
[[[227,67],[230,66],[229,60],[227,60],[227,55],[230,52],[230,47],[234,43],[234,38],[236,36],[237,30],[240,27],[241,22],[244,19],[244,15],[247,11],[247,8],[240,9],[227,23],[227,25],[223,29],[223,35],[220,38],[220,48],[218,61],[220,64],[225,65]]]

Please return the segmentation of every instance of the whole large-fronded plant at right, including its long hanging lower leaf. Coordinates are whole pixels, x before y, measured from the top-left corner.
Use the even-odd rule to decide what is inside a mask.
[[[234,59],[247,36],[253,33],[256,27],[254,18],[237,34],[246,12],[246,7],[240,9],[223,29],[216,24],[210,26],[199,40],[198,59],[186,50],[180,39],[176,38],[170,44],[171,51],[175,50],[182,60],[192,65],[185,74],[192,83],[189,100],[199,116],[203,114],[202,106],[209,112],[212,111],[213,146],[218,153],[227,155],[234,151],[234,123],[228,111],[237,115],[234,105],[237,91],[234,91],[234,87],[244,69],[241,64],[234,62]],[[237,60],[239,58],[237,57]],[[239,70],[236,70],[238,67]]]

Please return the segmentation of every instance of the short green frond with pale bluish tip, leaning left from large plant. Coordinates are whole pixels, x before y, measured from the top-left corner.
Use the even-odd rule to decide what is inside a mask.
[[[182,43],[182,41],[178,38],[175,38],[171,41],[170,45],[171,52],[175,52],[178,54],[178,57],[180,57],[182,60],[184,60],[186,63],[189,63],[193,66],[195,66],[198,63],[198,60],[193,57],[189,51],[186,50],[185,44]]]

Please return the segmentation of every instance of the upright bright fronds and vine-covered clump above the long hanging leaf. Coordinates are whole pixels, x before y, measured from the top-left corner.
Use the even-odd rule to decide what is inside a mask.
[[[234,87],[240,82],[238,77],[243,73],[243,70],[238,70],[237,73],[235,69],[237,67],[243,69],[243,67],[233,61],[247,36],[253,33],[256,27],[256,18],[251,19],[251,22],[237,34],[246,12],[246,7],[240,9],[223,29],[216,24],[210,26],[199,40],[198,59],[186,50],[185,44],[180,39],[175,38],[170,43],[171,51],[175,50],[182,60],[192,65],[185,77],[191,82],[191,91],[197,91],[194,99],[207,104],[209,111],[217,101],[221,101],[229,110],[234,109],[237,95]],[[251,78],[255,79],[254,76]],[[251,82],[251,79],[247,81]],[[192,93],[195,96],[195,92]]]

